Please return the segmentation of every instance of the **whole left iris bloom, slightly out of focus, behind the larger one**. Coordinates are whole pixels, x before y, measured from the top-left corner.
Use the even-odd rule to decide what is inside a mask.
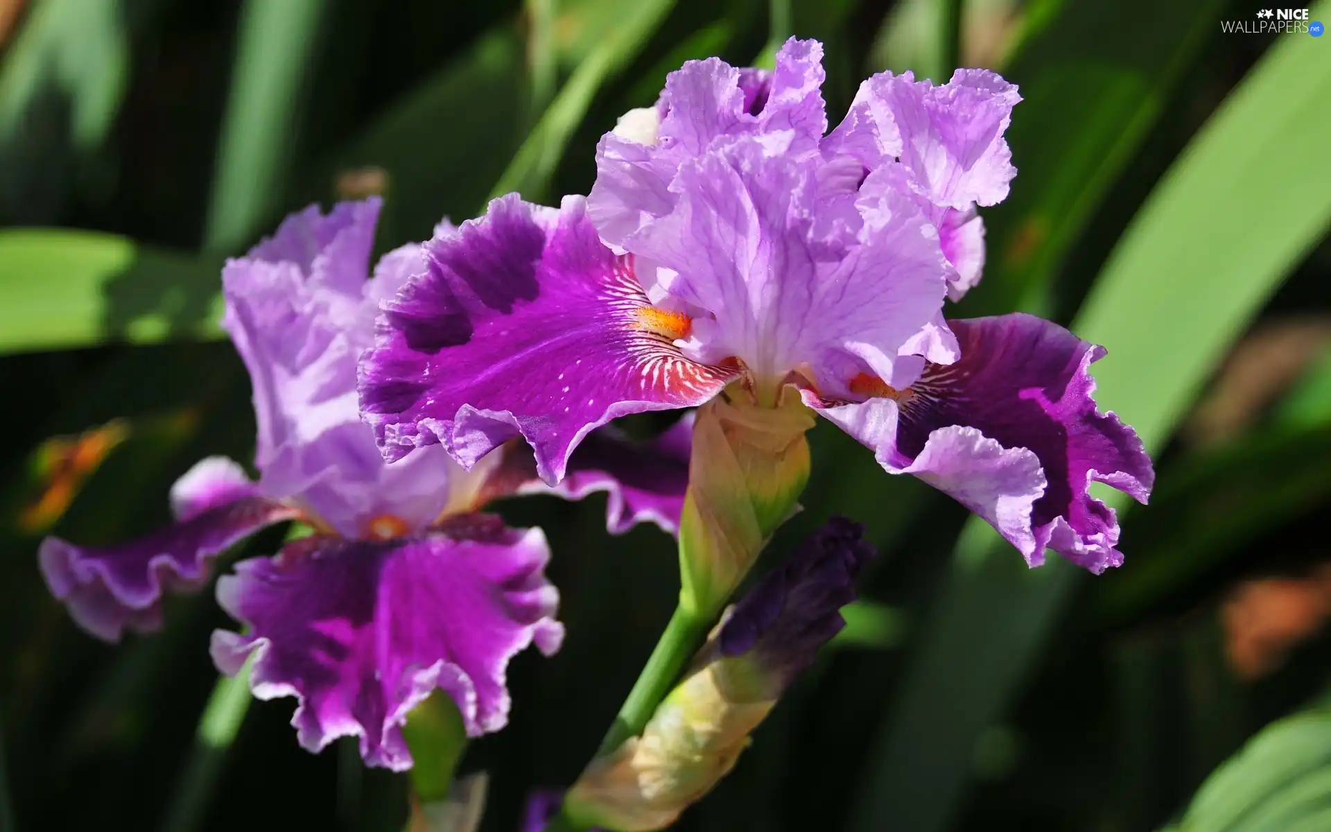
[[[213,659],[236,674],[253,655],[257,698],[297,696],[305,748],[355,735],[367,764],[403,769],[401,726],[417,703],[442,688],[469,733],[502,728],[508,659],[532,643],[554,652],[563,627],[542,531],[475,513],[495,497],[551,491],[531,451],[515,443],[470,473],[438,447],[387,465],[359,418],[355,365],[378,304],[425,269],[413,244],[366,280],[378,212],[378,200],[327,216],[310,208],[226,264],[224,326],[253,382],[260,479],[204,459],[172,489],[173,526],[104,548],[48,538],[40,562],[75,620],[117,640],[160,626],[164,595],[202,586],[233,543],[281,520],[309,523],[314,535],[218,580],[218,602],[245,631],[214,632]],[[688,419],[650,446],[588,437],[552,491],[608,491],[612,531],[642,519],[672,530],[688,437]]]

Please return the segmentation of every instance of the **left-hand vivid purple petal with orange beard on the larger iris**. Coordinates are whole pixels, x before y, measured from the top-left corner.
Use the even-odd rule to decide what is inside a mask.
[[[554,485],[594,427],[701,403],[735,377],[648,327],[628,258],[578,197],[559,210],[495,200],[427,253],[361,366],[361,407],[389,459],[442,443],[470,469],[520,435]]]

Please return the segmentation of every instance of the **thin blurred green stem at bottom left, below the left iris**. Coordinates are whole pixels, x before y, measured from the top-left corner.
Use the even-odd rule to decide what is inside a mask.
[[[190,832],[201,825],[213,785],[226,760],[226,751],[236,741],[253,700],[249,672],[250,666],[246,664],[234,678],[222,676],[217,680],[204,716],[198,720],[194,749],[166,811],[166,821],[162,824],[165,832]]]

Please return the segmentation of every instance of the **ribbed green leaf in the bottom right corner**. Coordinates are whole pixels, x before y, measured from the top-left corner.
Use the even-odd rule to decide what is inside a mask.
[[[1272,723],[1198,789],[1175,832],[1315,832],[1331,821],[1331,711]]]

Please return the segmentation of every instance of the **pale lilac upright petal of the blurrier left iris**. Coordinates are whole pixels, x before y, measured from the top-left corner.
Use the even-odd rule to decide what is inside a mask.
[[[454,467],[439,451],[385,466],[361,421],[355,363],[374,342],[379,301],[426,270],[423,248],[409,244],[366,280],[377,214],[377,200],[307,209],[222,274],[225,326],[254,387],[262,490],[353,538],[385,515],[427,526]]]

